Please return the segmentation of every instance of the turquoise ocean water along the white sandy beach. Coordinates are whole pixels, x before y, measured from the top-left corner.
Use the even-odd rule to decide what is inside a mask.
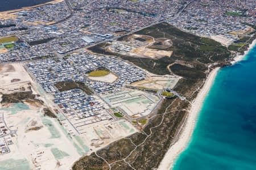
[[[173,169],[256,169],[256,46],[219,71]]]

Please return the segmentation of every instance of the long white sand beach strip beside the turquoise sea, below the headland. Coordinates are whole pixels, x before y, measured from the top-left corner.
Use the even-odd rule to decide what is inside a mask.
[[[203,88],[200,90],[196,99],[193,101],[192,108],[189,111],[189,116],[183,126],[179,139],[177,139],[177,142],[174,143],[174,145],[172,145],[167,151],[164,159],[158,167],[159,170],[172,168],[177,156],[179,156],[179,154],[185,149],[185,147],[187,147],[188,142],[191,139],[193,129],[195,128],[197,116],[200,112],[205,96],[207,96],[219,69],[220,68],[218,67],[209,74]]]

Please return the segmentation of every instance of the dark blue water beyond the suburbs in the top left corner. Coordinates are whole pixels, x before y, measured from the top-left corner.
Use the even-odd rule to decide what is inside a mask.
[[[15,10],[22,7],[39,5],[52,0],[0,0],[0,11]]]

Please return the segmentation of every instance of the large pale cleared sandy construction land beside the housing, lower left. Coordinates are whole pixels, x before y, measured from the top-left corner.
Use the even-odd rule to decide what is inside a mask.
[[[57,108],[21,63],[0,65],[0,84],[2,94],[29,91],[28,86],[31,86],[33,94],[40,95],[38,99],[44,101],[44,104],[30,101],[0,105],[0,116],[13,131],[0,137],[13,141],[13,145],[9,145],[10,152],[0,154],[0,169],[70,169],[81,156],[137,131],[129,122],[118,120],[92,124],[84,134],[69,135],[61,125],[63,114],[59,112],[57,118],[44,116],[43,108],[51,111]]]

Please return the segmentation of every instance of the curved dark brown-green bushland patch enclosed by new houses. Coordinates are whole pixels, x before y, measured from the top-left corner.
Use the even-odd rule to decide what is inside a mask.
[[[88,95],[93,94],[93,91],[90,90],[90,88],[86,86],[85,83],[82,83],[82,82],[59,82],[55,84],[55,87],[57,87],[57,89],[60,92],[79,88]]]

